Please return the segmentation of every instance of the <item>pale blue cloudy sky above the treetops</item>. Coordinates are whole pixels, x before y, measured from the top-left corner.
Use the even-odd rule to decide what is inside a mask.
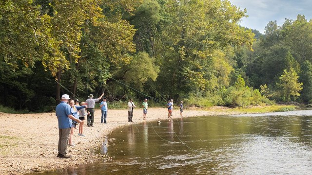
[[[233,5],[247,10],[248,18],[242,18],[241,26],[256,29],[264,34],[270,21],[283,25],[285,18],[295,20],[298,14],[309,21],[312,18],[312,0],[230,0]]]

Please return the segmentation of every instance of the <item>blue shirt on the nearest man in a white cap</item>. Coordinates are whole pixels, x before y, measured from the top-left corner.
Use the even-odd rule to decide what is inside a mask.
[[[71,128],[73,121],[68,117],[72,114],[72,108],[65,102],[60,102],[55,108],[56,116],[58,116],[59,129]]]

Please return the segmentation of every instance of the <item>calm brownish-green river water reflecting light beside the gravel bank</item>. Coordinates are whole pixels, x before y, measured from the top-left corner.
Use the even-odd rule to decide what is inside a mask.
[[[110,161],[49,175],[311,175],[312,110],[130,124],[99,152]]]

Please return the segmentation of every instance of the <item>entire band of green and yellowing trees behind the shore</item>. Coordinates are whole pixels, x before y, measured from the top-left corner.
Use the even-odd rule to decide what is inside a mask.
[[[271,21],[261,35],[240,26],[246,13],[229,0],[1,1],[0,104],[46,111],[62,93],[102,92],[310,102],[311,21]]]

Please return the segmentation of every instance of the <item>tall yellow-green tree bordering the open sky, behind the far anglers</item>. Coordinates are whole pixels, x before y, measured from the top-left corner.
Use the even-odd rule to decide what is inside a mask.
[[[165,85],[160,90],[178,98],[178,94],[228,86],[232,46],[251,47],[254,41],[251,30],[238,25],[246,11],[227,0],[168,0],[159,4],[163,4],[161,14],[166,15],[168,24],[160,24],[163,28],[155,42],[161,72],[157,82]]]

